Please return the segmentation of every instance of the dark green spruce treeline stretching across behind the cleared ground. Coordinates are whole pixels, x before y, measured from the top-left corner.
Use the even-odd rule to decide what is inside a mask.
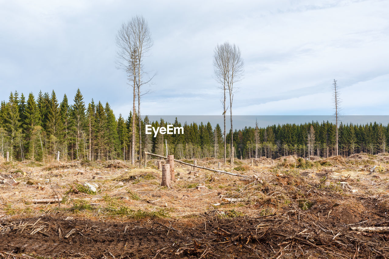
[[[136,115],[135,115],[136,116]],[[24,161],[51,161],[60,151],[61,160],[108,160],[131,159],[132,119],[130,115],[118,118],[109,106],[92,99],[85,104],[78,89],[73,104],[66,94],[58,101],[54,90],[51,94],[40,92],[35,99],[30,93],[25,96],[11,92],[9,100],[2,101],[0,107],[0,154],[9,152],[10,159]],[[137,120],[137,117],[135,117]],[[207,124],[184,123],[176,120],[173,126],[184,127],[184,134],[145,134],[145,124],[153,127],[171,124],[163,121],[150,122],[146,116],[141,123],[142,142],[148,152],[176,158],[223,158],[224,141],[221,127]],[[139,126],[135,124],[135,131]],[[385,152],[389,140],[389,125],[376,122],[340,124],[339,154]],[[138,138],[138,134],[136,135]],[[231,132],[226,136],[227,143]],[[309,122],[305,124],[273,125],[266,128],[245,127],[233,133],[235,156],[256,158],[266,156],[277,158],[296,154],[300,157],[335,155],[336,126],[332,122]],[[139,155],[138,139],[135,139],[135,156]],[[229,154],[230,147],[227,147]],[[136,158],[135,158],[136,159]]]

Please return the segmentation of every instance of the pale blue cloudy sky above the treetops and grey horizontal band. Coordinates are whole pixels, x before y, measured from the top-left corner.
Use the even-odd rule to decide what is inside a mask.
[[[216,44],[240,47],[234,115],[329,115],[333,79],[345,115],[389,114],[389,1],[3,1],[0,99],[17,90],[131,109],[115,35],[134,15],[154,40],[142,115],[221,115]]]

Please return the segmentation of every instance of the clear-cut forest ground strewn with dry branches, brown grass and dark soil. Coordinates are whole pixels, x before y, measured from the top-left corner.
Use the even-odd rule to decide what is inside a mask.
[[[0,163],[0,258],[389,258],[389,154],[156,163]]]

